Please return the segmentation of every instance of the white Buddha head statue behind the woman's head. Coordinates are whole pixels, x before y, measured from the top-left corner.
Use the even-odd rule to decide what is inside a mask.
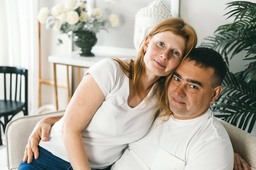
[[[155,0],[147,7],[141,8],[135,15],[133,44],[137,51],[144,38],[159,22],[171,18],[171,12],[162,0]]]

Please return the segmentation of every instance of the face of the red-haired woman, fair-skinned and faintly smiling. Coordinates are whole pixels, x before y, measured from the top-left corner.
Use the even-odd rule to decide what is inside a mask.
[[[171,31],[147,37],[144,42],[146,73],[166,76],[173,72],[183,59],[186,40]]]

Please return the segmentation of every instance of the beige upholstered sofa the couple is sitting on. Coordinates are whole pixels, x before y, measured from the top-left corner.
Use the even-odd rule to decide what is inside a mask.
[[[7,124],[5,137],[7,144],[7,163],[9,170],[16,170],[20,165],[27,139],[36,123],[45,117],[63,115],[64,111],[47,113],[43,115],[24,116],[12,120]],[[225,121],[220,120],[229,133],[234,147],[234,152],[241,155],[256,170],[256,136],[244,130],[236,128]]]

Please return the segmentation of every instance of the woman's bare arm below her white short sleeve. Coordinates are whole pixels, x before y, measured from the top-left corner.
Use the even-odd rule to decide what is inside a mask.
[[[90,74],[83,77],[63,116],[62,139],[74,170],[90,170],[81,131],[105,96]]]

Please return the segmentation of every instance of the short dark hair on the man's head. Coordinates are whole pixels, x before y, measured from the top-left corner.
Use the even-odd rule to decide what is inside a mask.
[[[195,66],[199,66],[200,68],[213,68],[212,86],[214,87],[221,85],[227,74],[226,62],[223,60],[222,56],[213,49],[205,47],[195,48],[189,53],[186,60],[194,61]]]

